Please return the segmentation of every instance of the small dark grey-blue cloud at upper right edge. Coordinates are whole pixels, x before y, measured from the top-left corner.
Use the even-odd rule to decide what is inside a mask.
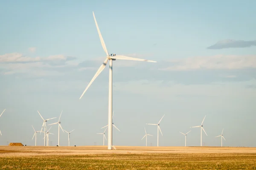
[[[256,40],[244,41],[244,40],[221,40],[216,44],[207,47],[207,49],[223,49],[223,48],[245,48],[256,46]]]

